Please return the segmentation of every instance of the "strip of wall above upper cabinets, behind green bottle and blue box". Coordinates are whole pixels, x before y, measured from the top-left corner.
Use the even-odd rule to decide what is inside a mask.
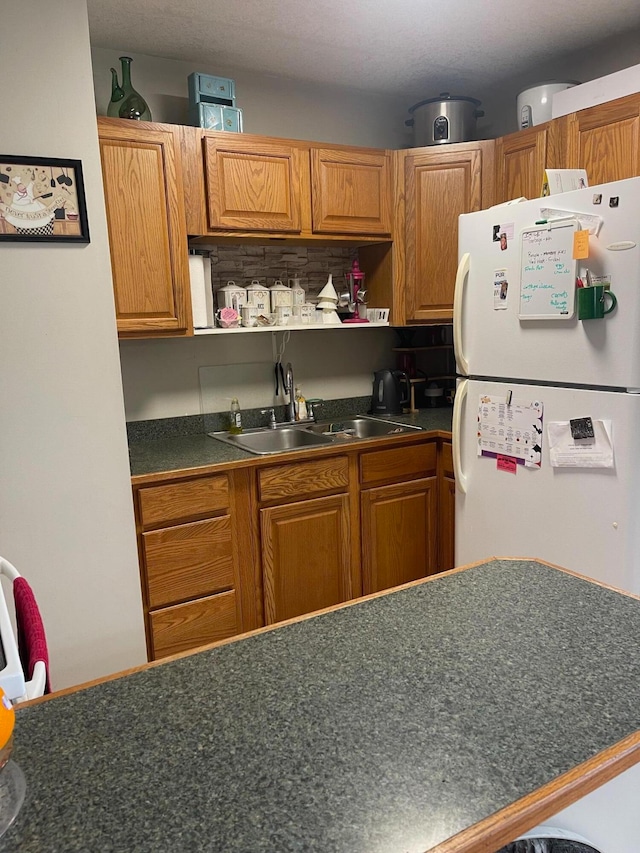
[[[187,77],[193,71],[231,77],[236,82],[236,101],[243,110],[244,132],[264,136],[311,139],[374,148],[411,145],[405,127],[407,108],[413,101],[356,89],[303,83],[270,77],[237,68],[208,67],[200,63],[160,59],[122,50],[94,47],[96,107],[106,115],[111,97],[110,67],[118,70],[122,55],[132,56],[131,80],[145,98],[154,121],[188,124]]]

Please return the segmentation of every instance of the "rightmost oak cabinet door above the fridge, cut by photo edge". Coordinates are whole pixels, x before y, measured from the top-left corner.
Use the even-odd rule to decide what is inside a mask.
[[[569,117],[567,168],[586,169],[589,184],[640,175],[640,95]]]

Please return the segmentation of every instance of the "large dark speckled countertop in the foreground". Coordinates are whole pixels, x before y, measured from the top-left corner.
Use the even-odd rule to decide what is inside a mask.
[[[639,645],[638,600],[495,560],[54,696],[18,710],[1,847],[486,853],[640,729]]]

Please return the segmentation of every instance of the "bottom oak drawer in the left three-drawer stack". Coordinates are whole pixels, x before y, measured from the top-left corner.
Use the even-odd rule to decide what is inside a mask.
[[[150,620],[154,659],[224,640],[240,632],[233,590],[156,610]]]

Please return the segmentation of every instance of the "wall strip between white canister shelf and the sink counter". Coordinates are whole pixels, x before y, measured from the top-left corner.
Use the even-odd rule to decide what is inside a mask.
[[[277,347],[282,337],[282,333],[275,335]],[[394,332],[388,328],[292,332],[282,361],[285,365],[292,362],[295,381],[302,385],[305,397],[360,397],[371,393],[374,370],[395,366],[393,345]],[[243,408],[284,402],[273,397],[274,359],[269,332],[121,341],[120,357],[128,421],[226,411],[226,388],[234,389],[229,396],[237,396]],[[256,376],[255,370],[251,374],[244,370],[247,364],[264,365],[259,373],[264,376],[264,396],[258,398],[254,393],[253,399],[243,394],[243,383],[249,375]],[[216,394],[215,371],[203,371],[201,406],[199,369],[212,365],[227,366],[225,391]]]

